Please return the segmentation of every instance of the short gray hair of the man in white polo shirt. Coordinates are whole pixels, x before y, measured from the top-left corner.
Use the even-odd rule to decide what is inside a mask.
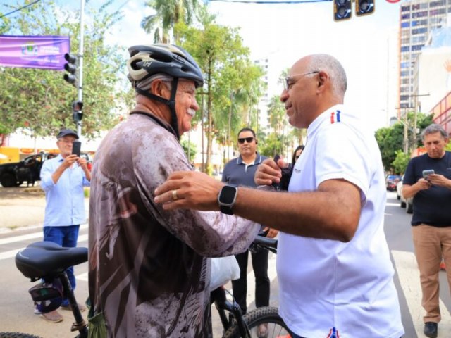
[[[347,89],[346,72],[341,63],[328,54],[313,54],[310,56],[309,69],[325,70],[332,83],[334,96],[342,99]]]

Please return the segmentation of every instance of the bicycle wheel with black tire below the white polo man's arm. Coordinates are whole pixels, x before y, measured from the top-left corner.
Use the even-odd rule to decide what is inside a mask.
[[[263,308],[256,308],[243,316],[247,327],[251,333],[251,338],[289,338],[290,330],[287,325],[283,323],[282,318],[278,313],[278,308],[265,306]],[[267,324],[268,330],[266,334],[259,335],[257,330],[260,324]],[[231,326],[223,335],[223,338],[242,338],[238,327]]]

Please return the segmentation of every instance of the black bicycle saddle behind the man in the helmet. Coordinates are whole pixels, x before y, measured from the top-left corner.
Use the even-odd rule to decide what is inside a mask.
[[[87,261],[87,248],[64,248],[54,242],[35,242],[16,254],[16,267],[28,278],[56,277],[70,266]]]

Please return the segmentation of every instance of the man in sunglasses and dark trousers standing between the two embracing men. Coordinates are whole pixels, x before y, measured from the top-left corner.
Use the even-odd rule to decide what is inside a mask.
[[[254,182],[254,175],[258,165],[266,160],[266,156],[257,153],[257,137],[254,130],[245,127],[238,132],[238,150],[240,156],[233,158],[226,163],[223,170],[222,181],[228,184],[244,185],[246,187],[257,187]],[[268,231],[268,237],[275,237],[277,230],[262,228],[263,232]],[[232,281],[233,297],[240,305],[242,313],[247,311],[247,261],[249,250],[235,255],[238,265],[240,265],[240,278]],[[252,252],[252,268],[255,275],[255,306],[269,306],[270,280],[268,277],[268,250],[259,249]],[[259,326],[259,337],[266,336],[266,324]]]

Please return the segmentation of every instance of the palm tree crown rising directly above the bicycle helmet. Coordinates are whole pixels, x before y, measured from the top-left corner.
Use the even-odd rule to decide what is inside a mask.
[[[204,5],[199,0],[149,0],[146,6],[153,8],[156,13],[144,17],[141,27],[147,33],[154,30],[154,42],[169,43],[174,25],[180,21],[190,25],[194,15]],[[178,42],[178,37],[174,40]]]

